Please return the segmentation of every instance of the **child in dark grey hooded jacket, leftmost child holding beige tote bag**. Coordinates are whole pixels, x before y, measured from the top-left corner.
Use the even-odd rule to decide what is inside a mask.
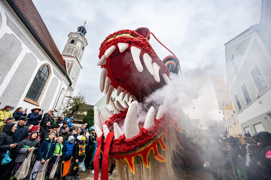
[[[21,143],[18,145],[16,149],[18,156],[15,159],[15,168],[10,179],[14,179],[14,175],[16,174],[20,166],[25,161],[25,158],[27,157],[28,153],[32,150],[34,152],[38,150],[40,146],[40,141],[37,140],[37,137],[38,137],[38,131],[32,131],[30,134],[30,138],[21,141]]]

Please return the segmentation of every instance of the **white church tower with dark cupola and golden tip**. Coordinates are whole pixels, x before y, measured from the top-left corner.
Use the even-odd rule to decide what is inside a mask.
[[[87,39],[85,39],[86,33],[85,24],[84,26],[79,26],[76,33],[71,32],[68,35],[68,41],[62,52],[62,57],[66,61],[67,73],[72,80],[72,89],[74,89],[80,70],[82,69],[80,62],[87,46]]]

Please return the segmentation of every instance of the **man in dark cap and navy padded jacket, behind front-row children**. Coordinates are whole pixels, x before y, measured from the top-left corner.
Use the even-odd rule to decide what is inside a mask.
[[[17,125],[17,129],[15,130],[14,134],[12,135],[12,139],[14,142],[20,143],[21,141],[25,140],[28,137],[28,127],[25,125],[27,124],[28,118],[26,116],[21,116],[19,118],[19,122]]]

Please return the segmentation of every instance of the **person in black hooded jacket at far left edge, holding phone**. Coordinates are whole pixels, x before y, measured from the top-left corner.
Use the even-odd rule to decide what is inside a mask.
[[[3,132],[0,133],[0,154],[5,154],[7,150],[11,150],[12,148],[16,147],[16,143],[14,143],[12,139],[12,135],[14,131],[17,129],[17,124],[10,123],[5,125],[3,128]],[[5,175],[5,172],[9,169],[11,163],[1,165],[1,173],[0,179],[2,179]],[[8,178],[9,179],[9,178]]]

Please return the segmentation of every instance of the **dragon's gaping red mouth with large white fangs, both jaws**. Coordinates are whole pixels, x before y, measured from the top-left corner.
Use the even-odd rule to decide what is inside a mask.
[[[124,159],[133,173],[135,156],[140,156],[148,167],[151,150],[157,160],[166,161],[159,154],[157,145],[162,150],[166,149],[163,137],[169,138],[168,127],[173,126],[182,133],[176,121],[178,114],[172,107],[174,100],[165,95],[163,100],[145,103],[157,89],[171,85],[168,76],[178,66],[174,56],[161,61],[149,44],[149,38],[147,28],[115,32],[101,43],[97,64],[102,68],[100,90],[105,92],[106,103],[110,102],[115,112],[112,114],[103,106],[104,114],[100,114],[94,107],[97,137],[104,135],[101,150],[105,150],[107,134],[113,131],[115,138],[110,145],[109,157],[116,158],[121,164],[121,159]],[[163,63],[165,60],[170,62],[169,66]],[[114,89],[117,89],[117,96],[122,92],[121,101],[126,97],[131,104],[123,101],[123,107],[119,101],[114,103],[111,97]]]

